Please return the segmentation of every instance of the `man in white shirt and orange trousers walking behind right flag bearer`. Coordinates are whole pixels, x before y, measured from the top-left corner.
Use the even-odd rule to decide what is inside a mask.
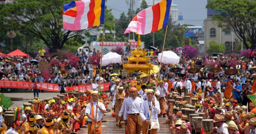
[[[165,93],[167,92],[167,89],[163,86],[163,81],[159,80],[158,82],[157,90],[160,92],[160,95],[156,95],[158,97],[159,103],[160,103],[160,109],[161,113],[158,115],[158,117],[162,116],[165,117]]]

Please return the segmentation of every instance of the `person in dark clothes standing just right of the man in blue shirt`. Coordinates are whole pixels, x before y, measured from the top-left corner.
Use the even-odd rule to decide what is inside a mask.
[[[251,102],[251,100],[246,96],[251,95],[252,92],[253,92],[253,88],[251,86],[251,80],[247,79],[245,81],[245,85],[243,86],[242,93],[241,93],[241,96],[243,96],[242,105],[247,106],[247,103],[249,104]]]

